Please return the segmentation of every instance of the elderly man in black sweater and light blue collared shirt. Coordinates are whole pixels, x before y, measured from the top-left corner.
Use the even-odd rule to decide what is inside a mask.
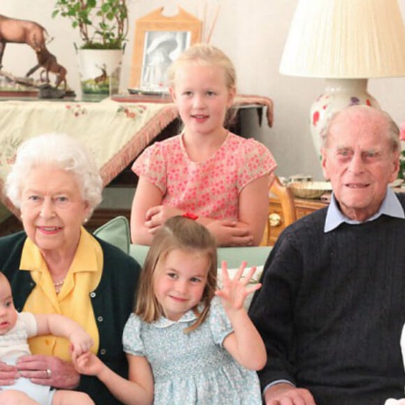
[[[353,106],[325,132],[330,206],[277,240],[249,314],[267,347],[267,405],[382,405],[403,397],[405,195],[390,117]]]

